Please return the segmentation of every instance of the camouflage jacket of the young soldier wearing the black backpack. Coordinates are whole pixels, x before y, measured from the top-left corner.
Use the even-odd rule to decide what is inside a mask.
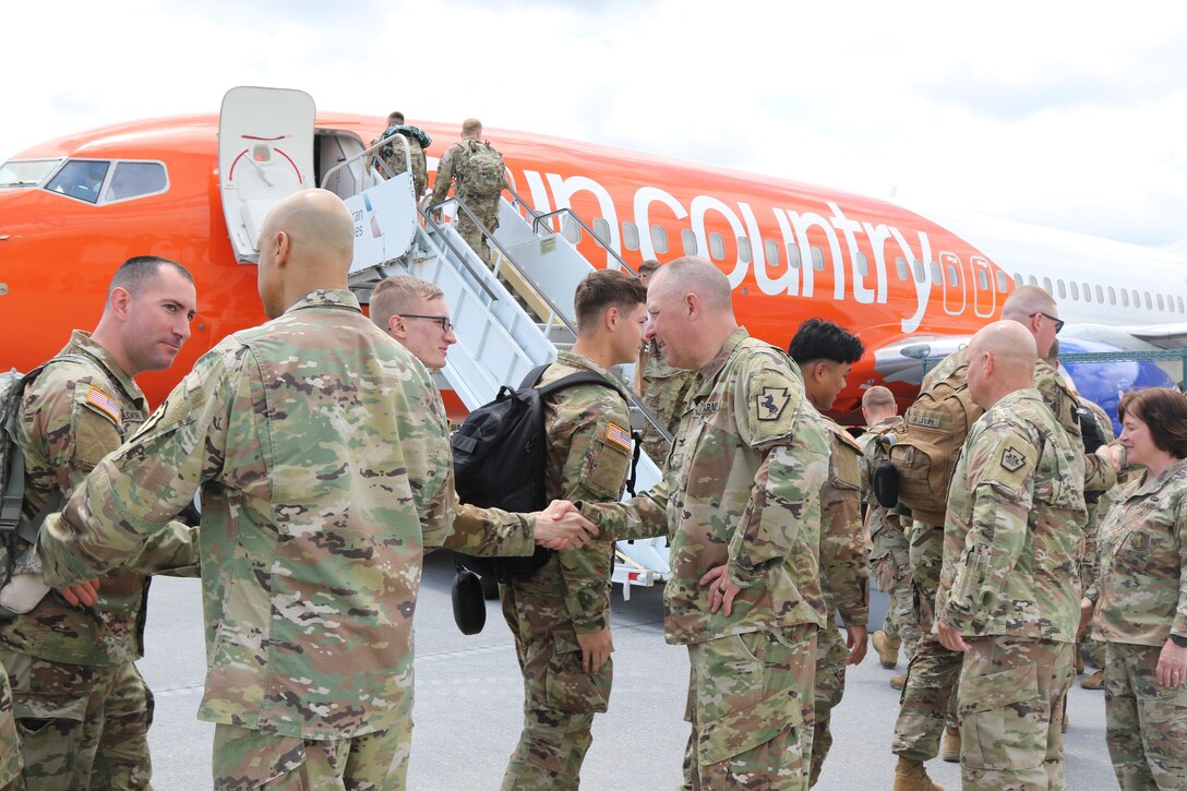
[[[557,362],[544,372],[540,384],[586,371],[614,381],[610,373],[592,360],[561,352]],[[621,391],[578,385],[557,393],[545,404],[544,425],[548,435],[545,492],[548,500],[615,502],[622,496],[631,454],[626,399],[627,394]],[[594,540],[558,556],[565,609],[573,628],[578,633],[607,628],[614,548],[608,542]]]

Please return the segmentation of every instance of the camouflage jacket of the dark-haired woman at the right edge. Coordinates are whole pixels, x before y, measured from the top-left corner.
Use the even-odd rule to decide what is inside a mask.
[[[1187,637],[1187,460],[1130,483],[1102,521],[1092,633],[1149,646]]]

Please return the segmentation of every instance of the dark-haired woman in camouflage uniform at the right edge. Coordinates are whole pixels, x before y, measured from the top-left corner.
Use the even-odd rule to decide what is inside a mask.
[[[1187,789],[1187,401],[1122,398],[1121,442],[1145,473],[1100,525],[1086,614],[1105,643],[1109,757],[1123,791]]]

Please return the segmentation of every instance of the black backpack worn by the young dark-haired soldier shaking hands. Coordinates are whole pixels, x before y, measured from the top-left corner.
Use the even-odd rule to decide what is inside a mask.
[[[533,368],[519,390],[499,388],[495,400],[470,412],[453,434],[453,479],[462,502],[515,513],[540,511],[548,505],[545,464],[548,437],[544,430],[544,401],[577,385],[614,387],[591,371],[563,376],[537,387],[548,365]],[[639,460],[635,445],[634,461]],[[634,463],[630,477],[634,479]],[[483,577],[507,582],[529,577],[548,562],[554,550],[537,546],[525,557],[475,557],[457,553],[461,567]]]

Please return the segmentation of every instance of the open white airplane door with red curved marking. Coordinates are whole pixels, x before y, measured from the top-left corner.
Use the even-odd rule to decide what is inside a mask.
[[[286,88],[231,88],[218,116],[218,182],[235,257],[255,264],[264,217],[313,183],[313,97]]]

